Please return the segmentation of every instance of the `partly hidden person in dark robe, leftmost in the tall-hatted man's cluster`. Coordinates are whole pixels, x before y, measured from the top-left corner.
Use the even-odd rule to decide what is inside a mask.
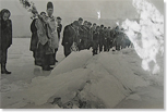
[[[37,50],[37,43],[38,43],[38,36],[37,36],[37,28],[35,26],[36,17],[34,17],[32,24],[31,24],[31,32],[32,32],[32,38],[31,38],[31,47],[29,50],[33,51],[34,57],[34,63],[35,65],[41,65],[40,57],[38,54]]]

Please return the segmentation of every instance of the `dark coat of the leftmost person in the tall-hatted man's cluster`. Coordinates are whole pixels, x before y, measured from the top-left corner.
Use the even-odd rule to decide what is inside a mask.
[[[32,38],[31,38],[31,51],[36,51],[37,49],[37,43],[38,43],[38,36],[37,36],[37,28],[35,26],[36,20],[33,20],[31,24],[31,32],[32,32]]]

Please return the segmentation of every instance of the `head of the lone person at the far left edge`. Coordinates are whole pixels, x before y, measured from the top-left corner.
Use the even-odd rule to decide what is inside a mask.
[[[1,10],[0,12],[1,20],[8,21],[11,16],[11,12],[7,9]]]

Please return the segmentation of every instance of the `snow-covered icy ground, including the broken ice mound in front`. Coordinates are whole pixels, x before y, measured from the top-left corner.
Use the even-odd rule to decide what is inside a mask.
[[[67,59],[60,46],[52,72],[34,65],[28,38],[14,38],[8,69],[1,75],[1,108],[164,109],[164,57],[160,73],[141,67],[134,49],[72,52]]]

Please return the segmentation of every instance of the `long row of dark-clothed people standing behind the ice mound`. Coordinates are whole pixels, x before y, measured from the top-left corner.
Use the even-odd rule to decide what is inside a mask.
[[[68,57],[71,51],[93,49],[93,55],[98,52],[108,52],[112,47],[120,50],[130,47],[131,42],[123,28],[119,26],[110,28],[104,25],[84,21],[80,17],[72,24],[67,25],[63,30],[62,46],[64,55]]]

